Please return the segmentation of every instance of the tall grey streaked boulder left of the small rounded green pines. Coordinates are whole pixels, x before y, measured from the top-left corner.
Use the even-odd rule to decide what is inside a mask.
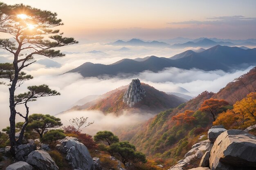
[[[92,157],[84,144],[70,139],[65,146],[68,148],[66,159],[73,169],[95,170]]]

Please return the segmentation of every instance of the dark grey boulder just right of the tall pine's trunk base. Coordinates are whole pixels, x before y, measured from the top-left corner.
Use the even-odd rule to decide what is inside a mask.
[[[35,150],[34,144],[23,144],[15,146],[15,158],[18,161],[25,161],[27,159],[27,155],[29,155],[33,150]]]

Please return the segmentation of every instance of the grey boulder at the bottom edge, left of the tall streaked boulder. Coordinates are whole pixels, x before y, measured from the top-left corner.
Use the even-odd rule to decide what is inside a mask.
[[[58,170],[52,157],[44,150],[34,150],[27,156],[27,163],[38,170]]]

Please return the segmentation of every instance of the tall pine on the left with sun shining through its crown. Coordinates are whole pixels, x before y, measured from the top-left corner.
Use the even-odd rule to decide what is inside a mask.
[[[27,126],[27,102],[38,97],[59,95],[46,85],[30,86],[29,92],[15,96],[15,90],[26,80],[33,78],[26,75],[22,69],[36,62],[35,55],[44,55],[49,58],[65,56],[56,47],[78,43],[74,38],[63,37],[63,33],[56,26],[63,25],[57,18],[57,13],[43,11],[24,4],[7,5],[0,2],[0,32],[11,35],[12,38],[0,39],[0,49],[13,55],[12,64],[2,64],[0,77],[9,79],[9,107],[10,107],[10,144],[11,148],[19,144]],[[49,35],[49,37],[45,37]],[[2,82],[2,84],[6,84]],[[22,115],[16,111],[17,104],[25,104],[27,113]],[[20,138],[15,140],[16,114],[25,119]]]

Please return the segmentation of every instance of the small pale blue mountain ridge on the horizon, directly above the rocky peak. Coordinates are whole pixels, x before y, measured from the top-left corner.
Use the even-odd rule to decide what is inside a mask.
[[[116,42],[108,43],[109,45],[114,46],[155,46],[155,47],[167,47],[170,46],[170,44],[167,44],[165,42],[159,42],[159,41],[151,41],[151,42],[145,42],[136,38],[133,38],[130,41],[123,41],[123,40],[117,40]]]

